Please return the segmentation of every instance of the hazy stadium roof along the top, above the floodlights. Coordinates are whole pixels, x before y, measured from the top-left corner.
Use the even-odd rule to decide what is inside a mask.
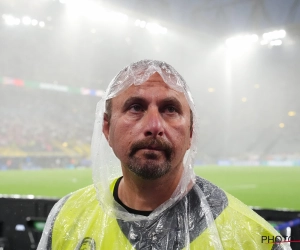
[[[2,14],[13,11],[16,15],[24,15],[26,10],[27,15],[37,19],[51,17],[55,22],[68,3],[109,5],[129,16],[147,16],[217,37],[300,24],[298,0],[34,0],[30,5],[26,0],[3,0],[0,6]]]

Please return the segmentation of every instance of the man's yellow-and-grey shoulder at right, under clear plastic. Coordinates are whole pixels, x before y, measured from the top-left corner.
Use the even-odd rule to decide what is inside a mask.
[[[263,244],[262,237],[272,238],[279,233],[239,199],[200,177],[196,178],[195,187],[200,188],[210,206],[224,249],[290,249],[284,245]],[[199,244],[200,239],[195,237],[193,244]]]

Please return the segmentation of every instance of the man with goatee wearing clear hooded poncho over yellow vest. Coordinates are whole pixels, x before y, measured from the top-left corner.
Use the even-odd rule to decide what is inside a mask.
[[[94,185],[52,209],[38,249],[290,249],[246,205],[195,177],[197,119],[170,65],[133,63],[99,102]],[[115,161],[115,159],[118,159]]]

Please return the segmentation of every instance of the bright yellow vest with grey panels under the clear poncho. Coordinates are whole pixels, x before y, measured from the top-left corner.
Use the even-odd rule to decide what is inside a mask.
[[[198,180],[199,179],[200,178],[198,178]],[[209,183],[208,181],[206,182]],[[114,183],[112,184],[112,188],[114,187]],[[213,190],[216,190],[213,184],[209,183],[209,185],[213,187]],[[272,237],[279,235],[279,233],[242,202],[223,190],[218,190],[222,192],[223,196],[220,197],[220,200],[215,197],[215,200],[210,201],[211,204],[209,203],[209,205],[211,209],[214,209],[213,207],[217,207],[218,204],[226,204],[226,206],[220,210],[217,217],[214,218],[215,228],[217,229],[217,234],[219,235],[223,249],[285,249],[283,247],[281,248],[280,245],[263,242],[263,236],[272,239]],[[134,228],[139,222],[124,222],[127,228],[127,231],[124,231],[120,221],[102,210],[96,197],[95,188],[91,185],[76,191],[67,199],[53,221],[52,235],[49,235],[49,249],[216,249],[214,241],[219,239],[216,238],[215,234],[212,234],[214,228],[205,225],[205,223],[202,225],[200,225],[201,223],[192,225],[193,219],[189,220],[189,224],[191,224],[188,225],[189,230],[194,230],[195,227],[203,227],[203,225],[205,227],[203,230],[194,231],[199,232],[199,234],[193,237],[186,237],[186,234],[189,233],[188,231],[178,231],[174,234],[173,231],[177,229],[168,228],[168,221],[164,221],[163,219],[164,215],[162,215],[161,221],[155,224],[156,228],[154,231],[151,228],[148,230],[146,226],[140,230],[135,230]],[[224,203],[222,199],[226,202]],[[167,211],[163,213],[168,212],[167,209]],[[188,216],[189,214],[187,217]],[[184,215],[182,218],[184,218]],[[197,218],[195,218],[195,221],[196,219]],[[177,223],[180,223],[180,219]],[[182,221],[182,223],[186,222]],[[152,225],[150,223],[147,226],[151,227]],[[178,225],[178,228],[181,228],[181,225]],[[156,235],[153,234],[153,232],[158,233]],[[161,238],[159,238],[159,232],[163,234]],[[173,236],[177,235],[176,237],[178,238],[182,237],[185,241],[180,248],[176,248],[174,245],[176,239],[173,239],[173,236],[173,238],[171,238],[171,232]],[[137,244],[133,244],[137,237],[146,240],[138,241]],[[154,246],[157,246],[157,248]]]

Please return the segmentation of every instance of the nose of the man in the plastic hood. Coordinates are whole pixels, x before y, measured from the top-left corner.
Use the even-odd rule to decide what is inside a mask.
[[[157,108],[149,108],[145,117],[145,136],[162,136],[164,134],[164,120]]]

